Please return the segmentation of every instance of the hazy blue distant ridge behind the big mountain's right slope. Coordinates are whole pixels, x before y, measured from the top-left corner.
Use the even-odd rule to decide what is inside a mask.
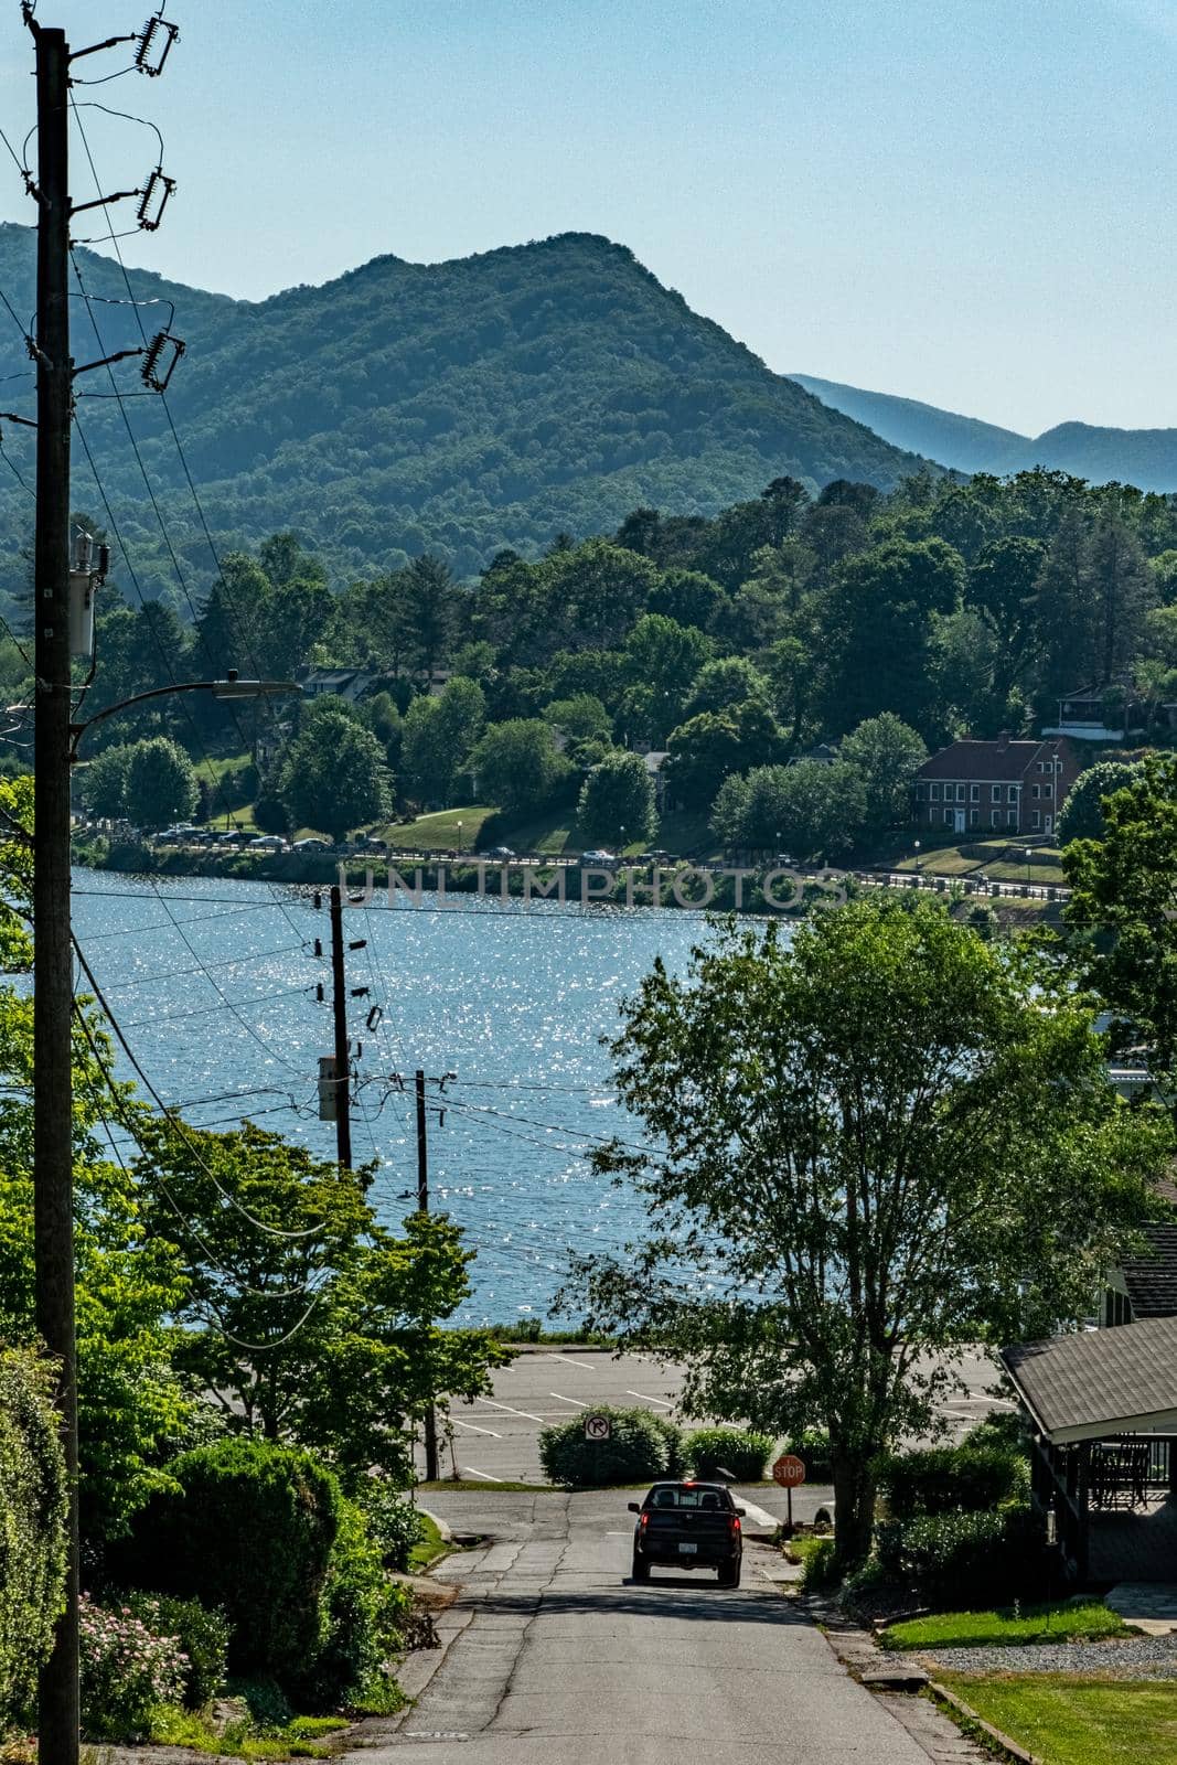
[[[1099,429],[1059,424],[1041,436],[941,411],[918,399],[865,392],[836,379],[792,374],[792,379],[833,411],[842,411],[895,447],[926,454],[956,471],[1023,471],[1048,466],[1092,484],[1135,484],[1142,491],[1177,491],[1177,429]]]

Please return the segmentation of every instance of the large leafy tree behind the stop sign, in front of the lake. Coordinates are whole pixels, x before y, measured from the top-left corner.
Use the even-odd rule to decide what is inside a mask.
[[[598,1165],[655,1236],[577,1258],[572,1294],[686,1363],[688,1414],[824,1426],[861,1562],[879,1453],[932,1424],[969,1345],[1087,1311],[1168,1137],[1119,1103],[1091,1008],[935,902],[815,913],[791,944],[731,928],[683,980],[658,962],[612,1052],[663,1151]]]

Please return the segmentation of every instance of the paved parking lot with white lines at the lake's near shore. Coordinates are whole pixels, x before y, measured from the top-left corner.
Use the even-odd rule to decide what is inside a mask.
[[[962,1375],[967,1389],[942,1403],[955,1435],[993,1408],[985,1387],[993,1386],[997,1368],[986,1357],[971,1354]],[[681,1368],[662,1366],[646,1356],[614,1359],[607,1350],[579,1347],[521,1354],[494,1380],[492,1398],[454,1405],[454,1442],[445,1454],[443,1476],[452,1476],[457,1467],[462,1477],[487,1486],[501,1481],[540,1483],[540,1428],[586,1416],[602,1403],[648,1408],[679,1421],[681,1386]]]

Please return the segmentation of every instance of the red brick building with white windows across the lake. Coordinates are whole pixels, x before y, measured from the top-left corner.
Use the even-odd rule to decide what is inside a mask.
[[[953,741],[916,773],[916,822],[937,833],[1053,833],[1078,775],[1064,736]]]

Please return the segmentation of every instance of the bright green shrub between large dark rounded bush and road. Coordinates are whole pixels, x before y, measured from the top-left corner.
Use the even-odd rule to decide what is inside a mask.
[[[353,1502],[339,1509],[339,1532],[323,1588],[323,1640],[295,1680],[298,1701],[314,1710],[369,1696],[399,1643],[408,1588],[386,1578],[379,1546]]]

